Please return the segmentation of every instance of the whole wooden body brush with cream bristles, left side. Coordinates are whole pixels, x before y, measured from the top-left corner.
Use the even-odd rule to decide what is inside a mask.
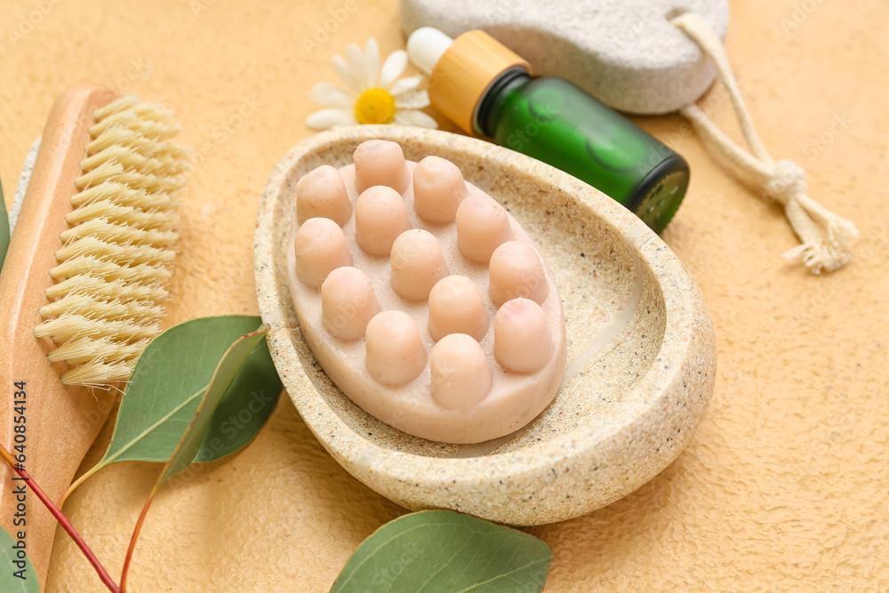
[[[0,274],[0,442],[54,501],[160,331],[179,131],[171,112],[92,84],[64,92],[46,122]],[[13,477],[4,464],[0,525],[43,583],[56,522],[29,490],[22,506]]]

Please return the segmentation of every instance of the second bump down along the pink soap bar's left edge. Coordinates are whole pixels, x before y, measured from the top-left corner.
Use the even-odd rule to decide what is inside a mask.
[[[302,223],[293,240],[296,276],[300,282],[320,288],[336,268],[352,265],[346,235],[334,220],[311,218]]]

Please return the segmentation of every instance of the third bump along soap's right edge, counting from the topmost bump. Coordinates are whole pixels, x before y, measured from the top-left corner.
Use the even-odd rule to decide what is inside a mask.
[[[487,264],[500,244],[512,238],[509,215],[490,196],[469,196],[457,208],[457,248],[463,257]]]

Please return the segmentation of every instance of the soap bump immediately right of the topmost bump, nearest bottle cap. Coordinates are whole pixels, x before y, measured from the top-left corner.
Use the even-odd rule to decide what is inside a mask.
[[[427,156],[413,170],[413,208],[432,224],[449,224],[467,195],[460,168],[440,156]]]

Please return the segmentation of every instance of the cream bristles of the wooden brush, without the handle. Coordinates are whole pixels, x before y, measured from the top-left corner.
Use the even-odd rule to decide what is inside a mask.
[[[56,280],[34,334],[57,346],[52,363],[71,366],[67,385],[126,381],[159,331],[157,301],[170,276],[180,174],[188,150],[172,111],[124,97],[93,113],[90,140],[60,235]]]

